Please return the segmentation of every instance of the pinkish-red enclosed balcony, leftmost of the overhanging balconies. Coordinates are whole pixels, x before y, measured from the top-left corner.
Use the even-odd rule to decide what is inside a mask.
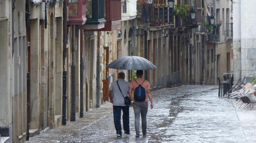
[[[86,5],[83,0],[68,0],[68,25],[83,25],[86,22]]]

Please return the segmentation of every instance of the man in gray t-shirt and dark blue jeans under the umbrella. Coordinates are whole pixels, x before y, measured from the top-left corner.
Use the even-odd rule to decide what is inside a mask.
[[[122,136],[121,109],[123,110],[124,134],[130,134],[129,106],[124,104],[124,97],[126,97],[129,92],[129,82],[126,82],[124,78],[125,74],[123,72],[119,72],[118,80],[112,82],[108,93],[110,102],[113,104],[114,124],[116,128],[116,134],[118,137]],[[123,95],[119,90],[117,84],[119,85]]]

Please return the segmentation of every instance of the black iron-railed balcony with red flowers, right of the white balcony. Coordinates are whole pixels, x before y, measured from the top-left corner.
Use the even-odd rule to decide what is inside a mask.
[[[150,26],[150,30],[171,28],[173,25],[172,9],[169,7],[155,7],[144,3],[141,10],[137,10],[137,25],[139,28]]]

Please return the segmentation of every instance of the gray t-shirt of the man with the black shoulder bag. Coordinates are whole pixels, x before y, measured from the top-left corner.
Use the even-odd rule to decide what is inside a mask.
[[[124,79],[118,79],[119,87],[124,95],[126,97],[128,95],[129,91],[129,82],[125,81]],[[114,106],[127,106],[124,104],[124,97],[122,96],[118,86],[117,82],[113,81],[110,88],[110,91],[113,91],[113,105]]]

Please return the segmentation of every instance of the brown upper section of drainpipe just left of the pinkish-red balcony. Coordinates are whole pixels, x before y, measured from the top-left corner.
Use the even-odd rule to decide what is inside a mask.
[[[67,0],[63,1],[63,69],[65,70],[65,58],[67,56]]]

